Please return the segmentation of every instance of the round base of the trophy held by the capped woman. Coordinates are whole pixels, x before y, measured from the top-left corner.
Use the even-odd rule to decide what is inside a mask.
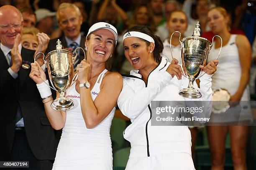
[[[51,108],[57,111],[67,111],[74,107],[74,102],[66,97],[60,97],[51,103]]]

